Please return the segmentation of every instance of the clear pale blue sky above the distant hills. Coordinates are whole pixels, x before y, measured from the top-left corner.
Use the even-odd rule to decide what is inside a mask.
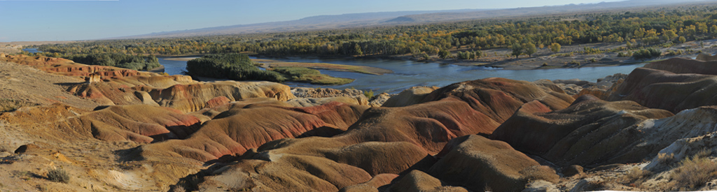
[[[0,42],[71,41],[383,11],[503,9],[601,0],[0,0]],[[602,0],[619,1],[619,0]]]

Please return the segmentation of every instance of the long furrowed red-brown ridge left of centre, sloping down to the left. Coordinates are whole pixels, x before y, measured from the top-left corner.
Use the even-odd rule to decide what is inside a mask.
[[[227,111],[206,121],[189,138],[144,146],[143,153],[209,161],[225,155],[242,154],[276,139],[297,137],[315,128],[346,130],[366,109],[338,102],[306,108],[262,103],[230,104],[232,106]]]

